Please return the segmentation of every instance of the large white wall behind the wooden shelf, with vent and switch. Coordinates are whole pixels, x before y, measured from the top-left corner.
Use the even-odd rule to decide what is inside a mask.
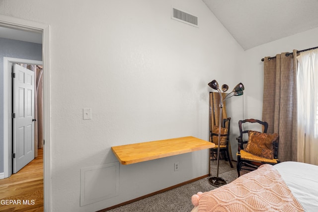
[[[199,28],[172,20],[171,5]],[[207,83],[233,88],[244,52],[201,0],[1,0],[0,14],[51,27],[53,212],[97,211],[208,173],[207,150],[120,165],[118,196],[79,206],[80,169],[116,162],[111,146],[208,140]]]

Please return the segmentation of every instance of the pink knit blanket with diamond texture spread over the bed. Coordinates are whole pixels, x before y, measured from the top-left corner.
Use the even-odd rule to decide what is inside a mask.
[[[198,212],[304,212],[285,181],[265,164],[232,183],[203,193]]]

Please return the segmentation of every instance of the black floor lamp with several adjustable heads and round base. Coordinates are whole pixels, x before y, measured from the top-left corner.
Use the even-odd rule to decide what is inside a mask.
[[[237,84],[237,86],[235,86],[235,88],[233,89],[233,91],[229,94],[227,94],[225,97],[222,95],[222,92],[219,88],[219,84],[217,82],[217,80],[212,80],[211,82],[209,82],[208,84],[210,87],[212,87],[213,89],[217,90],[220,94],[220,119],[219,119],[219,141],[218,141],[218,158],[217,158],[217,176],[216,177],[210,177],[208,179],[209,183],[213,186],[216,187],[220,187],[223,186],[225,184],[227,184],[227,182],[219,177],[219,157],[220,157],[220,141],[221,141],[221,120],[222,120],[222,108],[223,108],[223,102],[228,99],[231,98],[232,96],[240,96],[243,95],[243,90],[244,90],[244,85],[242,83]],[[222,85],[221,87],[223,93],[225,93],[228,89],[229,86],[227,84]],[[232,95],[231,95],[232,94]],[[230,158],[229,158],[230,160]]]

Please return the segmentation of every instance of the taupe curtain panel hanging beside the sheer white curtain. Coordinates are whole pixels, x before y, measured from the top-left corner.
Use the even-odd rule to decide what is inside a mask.
[[[297,50],[264,58],[262,120],[267,133],[279,134],[278,158],[297,161]]]

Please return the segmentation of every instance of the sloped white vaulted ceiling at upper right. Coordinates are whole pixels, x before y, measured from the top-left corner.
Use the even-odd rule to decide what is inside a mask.
[[[244,50],[318,27],[318,0],[203,0]]]

